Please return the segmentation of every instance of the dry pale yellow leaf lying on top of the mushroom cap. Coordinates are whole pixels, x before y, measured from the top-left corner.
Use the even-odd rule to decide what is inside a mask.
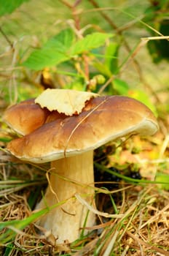
[[[98,96],[89,91],[47,89],[35,99],[35,103],[38,103],[41,108],[57,110],[59,113],[72,116],[82,112],[87,100]]]

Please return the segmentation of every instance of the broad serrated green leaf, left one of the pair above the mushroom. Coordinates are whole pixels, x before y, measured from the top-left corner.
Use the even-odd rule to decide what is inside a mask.
[[[74,41],[74,34],[71,29],[65,29],[49,39],[39,50],[34,50],[23,66],[39,70],[44,67],[52,67],[70,59],[68,49]]]

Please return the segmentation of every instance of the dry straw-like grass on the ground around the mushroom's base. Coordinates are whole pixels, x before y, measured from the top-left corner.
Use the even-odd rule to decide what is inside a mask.
[[[39,236],[35,231],[36,226],[30,224],[36,219],[35,214],[27,217],[30,210],[24,198],[13,195],[9,197],[12,203],[1,211],[6,224],[1,234],[1,241],[4,242],[2,252],[10,252],[9,255],[20,255],[21,252],[47,255],[52,250],[53,255],[57,252],[68,252],[68,255],[85,255],[84,252],[90,252],[87,255],[110,255],[110,252],[114,252],[114,255],[138,255],[138,252],[153,255],[151,253],[158,252],[168,255],[168,192],[159,195],[159,191],[149,185],[144,189],[138,186],[123,189],[121,194],[122,205],[118,203],[117,208],[120,214],[124,214],[122,219],[109,219],[95,226],[92,236],[81,238],[72,245],[55,244],[55,239],[48,237],[47,233]],[[129,203],[126,203],[126,199]],[[21,218],[22,221],[10,220],[16,213],[17,219]],[[97,233],[101,233],[101,236]]]

